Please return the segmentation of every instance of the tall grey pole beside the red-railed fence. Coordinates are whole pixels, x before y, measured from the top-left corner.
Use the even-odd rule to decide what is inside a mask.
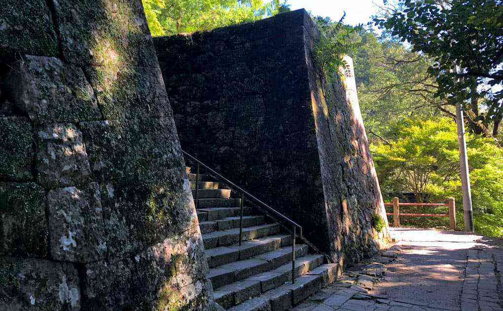
[[[463,190],[463,215],[465,230],[473,232],[473,206],[471,201],[470,174],[466,155],[465,124],[461,105],[456,105],[456,123],[458,124],[459,161],[461,163],[461,188]]]

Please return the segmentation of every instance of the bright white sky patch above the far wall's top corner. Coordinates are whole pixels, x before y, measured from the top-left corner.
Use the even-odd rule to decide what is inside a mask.
[[[377,12],[377,5],[382,0],[288,0],[292,10],[306,9],[313,15],[329,16],[333,21],[339,21],[346,11],[345,24],[367,24],[371,16]]]

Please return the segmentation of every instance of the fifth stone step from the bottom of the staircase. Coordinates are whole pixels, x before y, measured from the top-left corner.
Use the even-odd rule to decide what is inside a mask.
[[[242,241],[258,239],[279,234],[281,226],[278,223],[262,224],[243,228]],[[203,244],[206,250],[220,246],[230,246],[239,242],[239,228],[215,231],[203,235]]]

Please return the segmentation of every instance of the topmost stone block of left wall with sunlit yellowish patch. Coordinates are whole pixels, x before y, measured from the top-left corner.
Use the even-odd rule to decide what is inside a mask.
[[[140,0],[51,0],[64,58],[110,70],[158,66]]]

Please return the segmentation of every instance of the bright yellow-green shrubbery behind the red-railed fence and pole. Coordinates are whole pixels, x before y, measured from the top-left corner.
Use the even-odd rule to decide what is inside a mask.
[[[445,202],[454,197],[461,208],[456,124],[448,118],[409,118],[393,123],[389,131],[386,136],[395,137],[389,143],[371,145],[383,196],[390,200],[412,192],[418,202]],[[503,149],[492,139],[472,134],[467,134],[467,147],[475,228],[500,236]]]

